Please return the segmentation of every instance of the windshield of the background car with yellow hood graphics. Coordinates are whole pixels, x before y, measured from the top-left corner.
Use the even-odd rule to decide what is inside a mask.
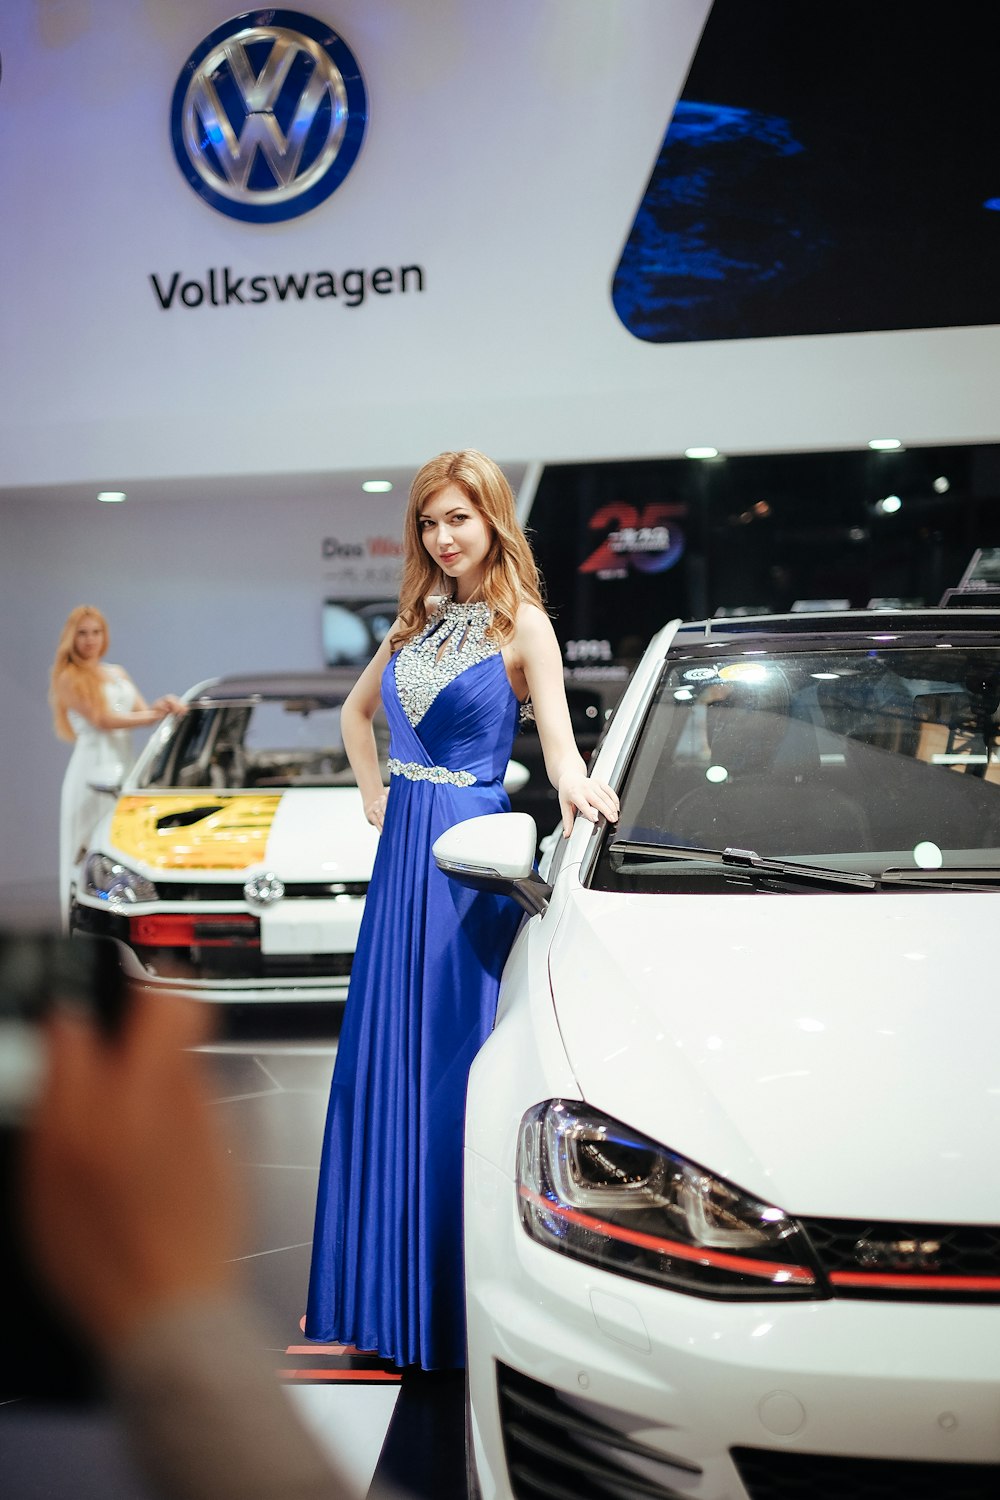
[[[388,734],[375,722],[379,759]],[[316,698],[199,699],[138,770],[147,789],[256,790],[355,786],[340,734],[340,704]]]

